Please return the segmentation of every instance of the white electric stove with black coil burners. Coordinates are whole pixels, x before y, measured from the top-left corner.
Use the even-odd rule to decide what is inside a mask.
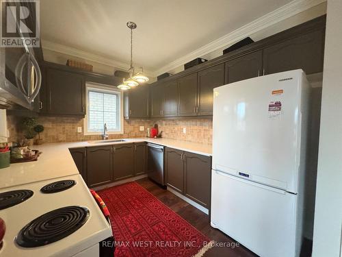
[[[81,175],[1,189],[0,217],[0,256],[99,256],[99,243],[112,236]]]

